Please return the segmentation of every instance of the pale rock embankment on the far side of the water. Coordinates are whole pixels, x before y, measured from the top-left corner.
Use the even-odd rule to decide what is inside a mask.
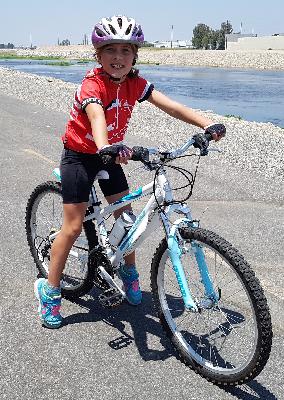
[[[92,46],[46,46],[35,50],[15,50],[18,55],[52,56],[67,59],[92,58]],[[220,50],[177,50],[147,49],[139,50],[141,63],[206,66],[223,68],[284,69],[284,50],[267,51],[220,51]]]

